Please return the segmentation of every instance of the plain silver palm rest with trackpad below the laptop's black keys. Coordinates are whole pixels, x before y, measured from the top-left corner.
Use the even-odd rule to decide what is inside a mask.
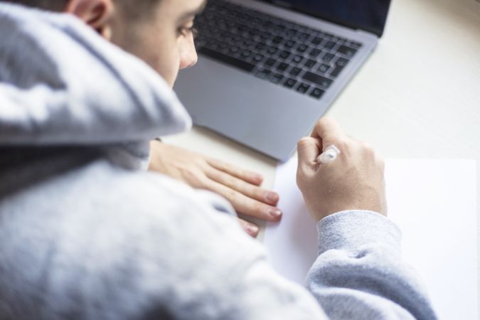
[[[325,102],[202,56],[181,71],[175,90],[195,124],[279,160],[288,159],[327,108]]]

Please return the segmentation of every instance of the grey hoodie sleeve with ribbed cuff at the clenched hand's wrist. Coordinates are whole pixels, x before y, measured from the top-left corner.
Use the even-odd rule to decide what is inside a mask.
[[[319,257],[307,277],[329,319],[437,319],[400,252],[400,230],[378,213],[351,210],[317,225]]]

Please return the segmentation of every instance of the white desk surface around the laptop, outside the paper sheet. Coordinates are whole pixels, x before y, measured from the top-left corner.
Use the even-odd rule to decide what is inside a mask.
[[[378,48],[327,114],[384,158],[480,164],[480,2],[393,0]],[[274,160],[218,134],[193,128],[165,141],[257,171],[273,186]]]

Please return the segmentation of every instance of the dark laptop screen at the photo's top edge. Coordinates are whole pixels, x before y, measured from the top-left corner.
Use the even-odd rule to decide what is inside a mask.
[[[390,0],[262,0],[324,18],[349,28],[358,28],[379,37],[387,21]]]

